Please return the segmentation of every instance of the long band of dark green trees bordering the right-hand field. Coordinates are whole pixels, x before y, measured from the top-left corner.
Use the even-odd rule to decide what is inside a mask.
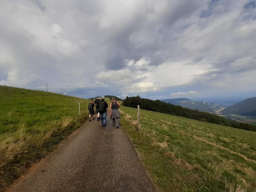
[[[160,113],[166,113],[170,115],[176,115],[190,119],[196,119],[199,121],[220,124],[256,132],[256,125],[228,120],[221,116],[210,114],[208,112],[202,112],[196,109],[183,108],[179,105],[172,105],[170,103],[165,103],[160,100],[144,99],[140,98],[139,96],[126,97],[126,99],[123,100],[123,106],[137,108],[138,105],[140,105],[141,109],[149,111],[156,111]]]

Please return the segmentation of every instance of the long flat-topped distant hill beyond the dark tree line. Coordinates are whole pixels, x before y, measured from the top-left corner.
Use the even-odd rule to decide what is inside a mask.
[[[206,102],[206,101],[196,101],[187,98],[177,98],[177,99],[163,99],[166,103],[171,103],[173,105],[180,105],[181,107],[197,109],[199,111],[215,112],[224,108],[226,106],[220,105],[218,103]]]

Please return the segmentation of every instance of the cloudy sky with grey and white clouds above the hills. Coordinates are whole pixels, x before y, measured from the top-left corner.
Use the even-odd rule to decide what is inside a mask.
[[[0,85],[256,96],[255,0],[0,0]]]

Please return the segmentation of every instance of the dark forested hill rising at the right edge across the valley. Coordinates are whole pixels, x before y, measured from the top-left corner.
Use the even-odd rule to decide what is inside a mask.
[[[248,98],[221,111],[227,114],[256,116],[256,97]]]

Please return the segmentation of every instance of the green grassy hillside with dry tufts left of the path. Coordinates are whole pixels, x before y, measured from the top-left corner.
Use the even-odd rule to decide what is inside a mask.
[[[88,103],[76,97],[0,86],[0,191],[79,127],[87,118]]]

